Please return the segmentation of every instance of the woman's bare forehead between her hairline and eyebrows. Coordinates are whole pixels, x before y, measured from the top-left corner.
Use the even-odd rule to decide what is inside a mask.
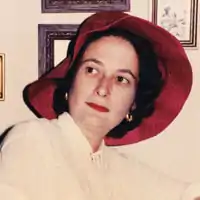
[[[104,36],[89,44],[83,54],[83,60],[86,59],[99,60],[105,66],[114,65],[133,70],[138,67],[134,46],[119,36]]]

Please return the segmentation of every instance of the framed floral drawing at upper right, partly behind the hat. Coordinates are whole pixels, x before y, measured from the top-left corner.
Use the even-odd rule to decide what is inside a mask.
[[[197,47],[198,0],[152,0],[151,20],[184,47]]]

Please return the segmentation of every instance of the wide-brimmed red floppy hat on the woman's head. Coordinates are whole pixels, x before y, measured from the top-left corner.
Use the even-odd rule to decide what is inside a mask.
[[[52,108],[56,84],[53,79],[63,78],[75,60],[86,38],[95,31],[117,27],[148,39],[159,59],[165,86],[155,101],[154,113],[143,120],[139,127],[121,139],[105,138],[107,145],[132,144],[156,136],[163,131],[182,109],[192,86],[192,69],[179,41],[170,33],[144,19],[123,12],[99,12],[87,18],[79,27],[73,56],[69,55],[39,80],[24,89],[24,101],[38,116],[56,118]],[[162,70],[162,69],[166,70]]]

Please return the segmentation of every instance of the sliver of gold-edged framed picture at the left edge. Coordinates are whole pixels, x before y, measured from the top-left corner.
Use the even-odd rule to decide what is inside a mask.
[[[0,53],[0,101],[5,98],[5,54]]]

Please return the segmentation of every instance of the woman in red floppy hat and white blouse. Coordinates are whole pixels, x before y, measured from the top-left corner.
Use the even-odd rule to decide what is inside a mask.
[[[108,147],[161,132],[191,84],[190,63],[169,33],[121,12],[92,15],[67,58],[24,90],[42,119],[16,125],[3,141],[2,199],[195,199],[197,185]]]

